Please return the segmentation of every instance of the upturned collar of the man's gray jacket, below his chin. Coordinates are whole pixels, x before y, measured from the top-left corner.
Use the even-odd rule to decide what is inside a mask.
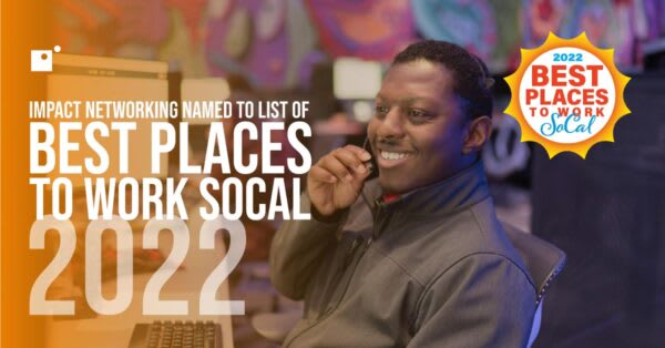
[[[416,188],[390,203],[383,202],[378,181],[376,187],[368,188],[368,196],[375,198],[375,209],[410,215],[452,213],[489,196],[488,181],[480,161],[449,178]]]

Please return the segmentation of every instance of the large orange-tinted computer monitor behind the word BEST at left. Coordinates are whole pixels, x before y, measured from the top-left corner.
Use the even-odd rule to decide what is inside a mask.
[[[47,78],[49,101],[145,101],[168,102],[168,65],[165,62],[103,58],[58,53],[53,55],[53,72]],[[108,123],[114,119],[86,119],[84,106],[81,106],[79,120],[85,126],[93,121]],[[59,139],[57,124],[61,121],[51,119]],[[122,120],[121,120],[122,121]],[[59,176],[72,181],[74,188],[83,187],[83,176],[92,177],[160,177],[167,176],[168,155],[162,154],[158,173],[151,172],[151,123],[167,122],[167,119],[133,119],[124,121],[136,122],[136,130],[129,136],[129,173],[121,174],[119,167],[119,133],[110,132],[108,139],[98,136],[100,143],[109,150],[110,167],[105,173],[92,175],[61,174],[53,171],[48,176],[52,180]],[[123,122],[124,122],[123,121]],[[70,132],[70,142],[80,144],[80,150],[70,153],[70,163],[82,165],[85,157],[96,160],[93,150],[86,145],[83,131]],[[54,147],[58,149],[58,142]],[[58,166],[57,166],[58,168]]]

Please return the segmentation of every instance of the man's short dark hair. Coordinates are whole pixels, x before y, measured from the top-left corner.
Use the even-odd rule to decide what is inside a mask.
[[[464,101],[464,111],[471,119],[492,116],[493,80],[480,58],[454,43],[424,40],[399,52],[392,65],[418,60],[440,63],[452,73],[453,91]]]

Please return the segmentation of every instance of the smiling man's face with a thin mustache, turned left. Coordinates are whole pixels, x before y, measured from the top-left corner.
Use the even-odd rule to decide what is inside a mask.
[[[442,64],[418,60],[390,68],[368,125],[379,184],[401,194],[463,167],[466,115]]]

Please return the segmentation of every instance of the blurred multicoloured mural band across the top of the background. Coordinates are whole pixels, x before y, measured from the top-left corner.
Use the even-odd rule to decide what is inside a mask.
[[[586,31],[641,62],[665,37],[665,0],[54,0],[54,43],[64,52],[157,59],[185,76],[238,73],[257,88],[306,86],[338,57],[389,61],[419,38],[448,40],[513,70],[519,48],[548,32]]]

